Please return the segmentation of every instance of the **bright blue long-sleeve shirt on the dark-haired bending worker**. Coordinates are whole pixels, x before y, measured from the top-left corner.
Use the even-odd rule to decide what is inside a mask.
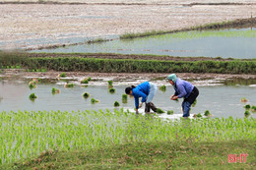
[[[136,109],[139,108],[139,97],[142,97],[142,102],[145,102],[149,93],[150,93],[150,83],[149,82],[142,83],[140,85],[137,85],[135,88],[133,88],[132,94],[135,99]]]

